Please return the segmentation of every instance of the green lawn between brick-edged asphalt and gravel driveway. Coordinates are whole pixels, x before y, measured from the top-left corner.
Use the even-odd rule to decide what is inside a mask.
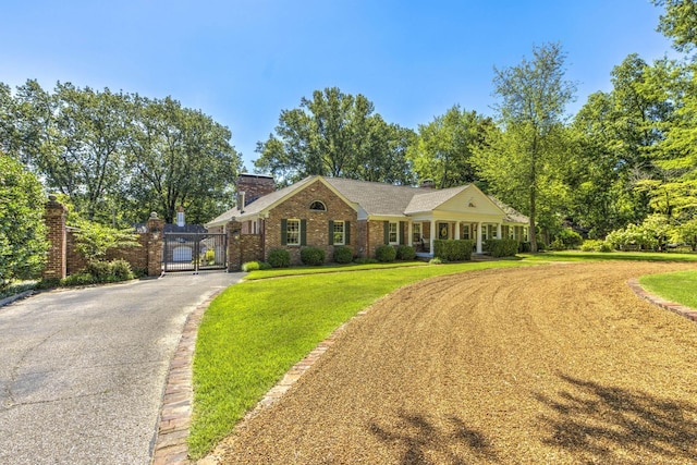
[[[697,255],[522,254],[500,261],[363,265],[254,271],[206,311],[194,357],[189,454],[205,455],[296,362],[377,298],[436,276],[587,260],[697,261]],[[283,279],[270,279],[282,277]]]

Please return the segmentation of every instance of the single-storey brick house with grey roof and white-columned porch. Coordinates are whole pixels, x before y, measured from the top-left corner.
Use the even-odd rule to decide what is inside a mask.
[[[285,248],[299,262],[303,246],[331,257],[339,245],[372,257],[384,244],[412,245],[418,256],[432,257],[437,238],[474,240],[481,253],[487,238],[528,237],[527,217],[474,184],[435,189],[313,175],[276,191],[270,176],[241,174],[236,204],[206,227],[227,232],[230,221],[240,224],[243,236],[258,240],[256,259]]]

